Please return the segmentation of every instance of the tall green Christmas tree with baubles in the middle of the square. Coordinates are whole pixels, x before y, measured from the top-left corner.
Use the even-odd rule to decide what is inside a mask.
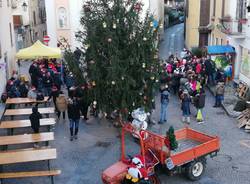
[[[138,107],[150,110],[154,103],[161,24],[143,15],[142,7],[138,0],[91,0],[83,6],[76,34],[83,57],[79,69],[69,63],[92,84],[92,100],[103,112],[128,114]]]

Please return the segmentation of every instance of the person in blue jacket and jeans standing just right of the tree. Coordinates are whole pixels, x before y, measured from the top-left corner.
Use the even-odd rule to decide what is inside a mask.
[[[167,121],[167,106],[169,103],[169,90],[168,85],[162,85],[161,89],[161,114],[159,124],[163,124]]]

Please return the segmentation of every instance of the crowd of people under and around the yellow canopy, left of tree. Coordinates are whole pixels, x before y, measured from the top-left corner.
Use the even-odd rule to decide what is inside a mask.
[[[65,120],[67,111],[70,122],[70,140],[77,139],[80,118],[88,120],[87,113],[91,102],[86,96],[91,86],[87,83],[76,86],[73,74],[54,59],[33,61],[29,74],[30,81],[27,77],[18,76],[18,73],[14,71],[12,77],[7,81],[2,101],[18,97],[39,101],[48,96],[48,101],[51,100],[54,104],[58,119],[62,114],[62,118]],[[64,94],[65,92],[67,94]],[[31,117],[31,120],[36,133],[39,128],[37,128],[37,120],[34,119],[39,119],[40,116],[37,115],[38,110],[35,108],[33,107],[34,116]]]

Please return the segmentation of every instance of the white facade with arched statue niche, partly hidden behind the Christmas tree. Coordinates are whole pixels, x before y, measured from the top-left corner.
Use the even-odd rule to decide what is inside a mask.
[[[81,28],[80,18],[84,0],[45,0],[48,35],[50,46],[56,47],[58,41],[65,38],[72,49],[80,47],[75,33]],[[144,12],[149,9],[157,21],[164,19],[164,1],[144,0]]]

